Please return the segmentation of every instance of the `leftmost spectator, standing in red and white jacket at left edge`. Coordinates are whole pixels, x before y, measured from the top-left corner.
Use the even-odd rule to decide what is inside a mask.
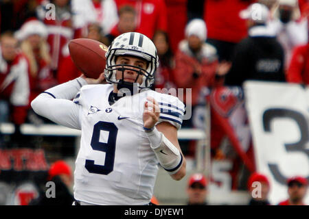
[[[0,100],[10,105],[10,121],[19,136],[19,127],[27,116],[30,81],[27,60],[17,49],[17,43],[12,33],[0,37]]]

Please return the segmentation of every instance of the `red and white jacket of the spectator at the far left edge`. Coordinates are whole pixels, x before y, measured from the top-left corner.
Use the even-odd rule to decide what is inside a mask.
[[[11,120],[14,124],[25,123],[30,97],[29,68],[26,58],[19,53],[8,63],[0,51],[0,100],[12,106]]]

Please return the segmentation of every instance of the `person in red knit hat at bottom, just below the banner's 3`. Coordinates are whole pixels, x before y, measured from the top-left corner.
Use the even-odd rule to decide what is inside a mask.
[[[260,189],[260,191],[255,193],[255,189]],[[254,172],[248,179],[248,190],[251,194],[249,205],[270,205],[268,201],[269,189],[270,185],[267,177]]]

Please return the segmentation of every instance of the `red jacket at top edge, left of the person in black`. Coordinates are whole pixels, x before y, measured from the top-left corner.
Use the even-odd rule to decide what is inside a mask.
[[[207,38],[238,43],[247,37],[247,26],[240,18],[241,10],[255,0],[207,0],[204,4],[204,21]]]

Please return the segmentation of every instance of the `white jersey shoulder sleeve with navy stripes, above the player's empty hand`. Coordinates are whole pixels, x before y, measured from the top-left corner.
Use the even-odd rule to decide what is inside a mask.
[[[176,129],[181,129],[185,105],[175,96],[161,94],[157,99],[160,107],[160,117],[158,123],[168,122]]]

